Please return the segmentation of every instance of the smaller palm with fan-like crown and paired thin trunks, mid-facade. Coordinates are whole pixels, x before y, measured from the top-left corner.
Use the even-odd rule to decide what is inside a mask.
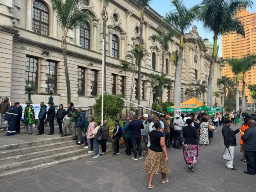
[[[148,51],[145,48],[140,47],[139,45],[136,45],[132,50],[130,50],[129,54],[126,54],[126,58],[130,59],[133,62],[134,66],[135,66],[134,71],[136,73],[136,70],[137,70],[137,67],[139,64],[139,60],[144,60],[144,58],[148,55],[149,55]],[[135,73],[134,73],[134,77],[132,77],[132,90],[131,90],[131,94],[130,94],[130,101],[132,101],[132,92],[133,92],[133,88],[134,88]],[[138,75],[138,87],[140,85],[139,77],[140,76]],[[139,93],[140,93],[140,90],[138,90],[138,100],[139,100],[139,96],[140,96]],[[131,108],[131,103],[130,103],[130,108]],[[139,111],[140,110],[138,109],[138,112]]]

